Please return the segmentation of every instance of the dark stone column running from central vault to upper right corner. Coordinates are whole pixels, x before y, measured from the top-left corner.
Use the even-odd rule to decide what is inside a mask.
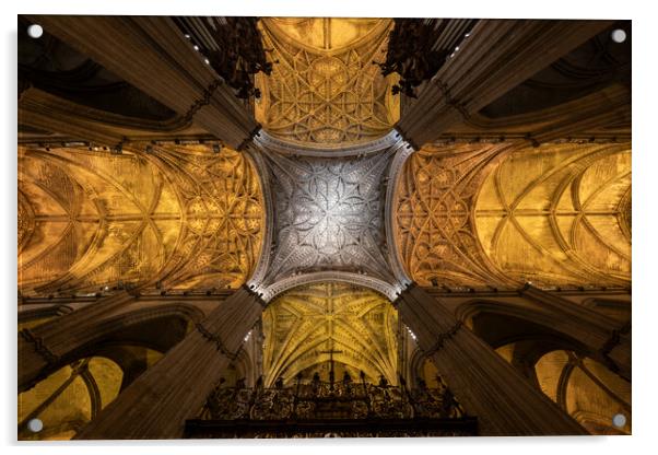
[[[468,120],[525,80],[602,32],[611,21],[479,21],[396,128],[414,149]]]

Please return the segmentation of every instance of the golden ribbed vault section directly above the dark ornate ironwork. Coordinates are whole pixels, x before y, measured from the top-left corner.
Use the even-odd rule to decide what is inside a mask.
[[[329,282],[307,284],[281,294],[262,315],[266,384],[279,377],[292,383],[297,373],[306,381],[314,372],[322,381],[333,360],[336,380],[342,372],[353,380],[383,375],[397,384],[397,311],[366,288]]]

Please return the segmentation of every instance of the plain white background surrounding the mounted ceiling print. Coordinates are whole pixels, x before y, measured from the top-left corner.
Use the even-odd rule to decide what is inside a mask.
[[[470,440],[314,440],[314,441],[245,441],[245,442],[85,442],[80,444],[23,444],[21,453],[43,454],[49,452],[66,454],[116,455],[120,452],[180,454],[183,447],[193,446],[195,452],[231,453],[231,448],[239,447],[240,452],[259,454],[293,454],[313,452],[314,455],[336,454],[337,450],[350,453],[400,454],[411,450],[418,454],[431,454],[437,451],[458,453],[493,453],[493,454],[551,454],[574,450],[599,454],[653,453],[656,442],[656,373],[655,360],[656,322],[658,314],[654,296],[655,262],[658,255],[656,248],[656,211],[654,194],[656,192],[656,139],[653,138],[655,114],[651,106],[658,106],[656,100],[655,79],[658,74],[656,65],[656,20],[650,9],[651,2],[636,1],[580,1],[551,0],[545,2],[520,2],[513,0],[470,0],[436,1],[426,0],[331,0],[320,4],[310,1],[291,0],[240,0],[240,1],[203,1],[203,0],[115,0],[111,2],[92,2],[82,0],[26,0],[21,2],[2,2],[0,21],[3,24],[3,83],[1,84],[4,101],[2,132],[4,160],[2,171],[3,206],[9,212],[3,225],[5,242],[4,270],[4,324],[7,369],[0,375],[3,382],[3,395],[8,399],[2,407],[2,440],[11,445],[15,440],[15,179],[16,179],[16,16],[21,13],[78,13],[78,14],[235,14],[235,15],[334,15],[334,16],[453,16],[453,18],[562,18],[562,19],[633,19],[633,89],[641,94],[634,100],[633,145],[634,145],[634,238],[633,252],[634,276],[634,338],[633,351],[635,377],[633,382],[634,409],[633,432],[631,438],[526,438],[526,439],[470,439]],[[13,211],[13,214],[12,214]],[[12,256],[14,255],[14,256]],[[294,445],[292,445],[294,444]],[[408,448],[409,447],[409,448]],[[191,448],[191,447],[190,447]],[[185,451],[186,448],[183,448]],[[189,448],[187,448],[189,450]],[[566,451],[565,451],[566,450]],[[571,451],[569,451],[571,450]],[[9,452],[17,452],[9,447]]]

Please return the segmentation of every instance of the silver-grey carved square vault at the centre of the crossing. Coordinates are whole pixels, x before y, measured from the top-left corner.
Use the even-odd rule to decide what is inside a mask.
[[[263,252],[270,255],[262,255],[248,285],[269,301],[321,276],[395,299],[406,282],[389,257],[385,199],[393,158],[409,154],[399,135],[351,149],[352,156],[341,159],[326,158],[317,148],[286,145],[263,132],[255,144],[261,178],[271,187],[266,200],[274,235],[266,240]]]

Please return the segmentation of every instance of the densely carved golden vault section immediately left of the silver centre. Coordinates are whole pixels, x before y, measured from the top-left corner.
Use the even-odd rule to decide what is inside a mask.
[[[232,288],[252,273],[262,247],[265,206],[256,167],[243,153],[210,145],[160,145],[151,154],[172,179],[184,226],[164,287]]]

